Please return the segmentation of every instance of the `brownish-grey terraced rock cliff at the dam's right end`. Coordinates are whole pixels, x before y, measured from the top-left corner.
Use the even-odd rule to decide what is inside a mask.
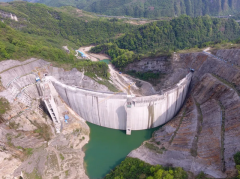
[[[142,145],[129,156],[180,166],[195,175],[235,175],[233,155],[240,150],[239,52],[217,51],[223,61],[203,53],[180,54],[179,60],[195,69],[189,97],[179,114],[148,141],[159,150]]]

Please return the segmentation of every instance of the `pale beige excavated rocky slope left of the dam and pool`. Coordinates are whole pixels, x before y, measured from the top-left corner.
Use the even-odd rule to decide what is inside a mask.
[[[76,70],[65,72],[46,65],[38,59],[0,62],[0,102],[9,105],[0,120],[0,178],[88,178],[82,148],[89,140],[89,127],[59,98],[58,105],[68,111],[70,119],[68,124],[62,121],[61,134],[55,134],[37,88],[31,84],[36,73],[48,73],[69,85],[94,90],[107,87]],[[69,80],[71,75],[78,80]]]

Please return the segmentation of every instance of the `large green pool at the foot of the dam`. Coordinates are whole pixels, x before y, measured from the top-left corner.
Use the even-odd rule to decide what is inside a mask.
[[[87,175],[90,179],[103,178],[114,169],[125,157],[139,147],[143,141],[151,138],[155,129],[126,131],[108,129],[88,123],[90,127],[90,141],[84,147]]]

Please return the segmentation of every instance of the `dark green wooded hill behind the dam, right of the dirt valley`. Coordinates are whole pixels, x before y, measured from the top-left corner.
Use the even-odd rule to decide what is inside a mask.
[[[171,21],[140,26],[118,38],[115,43],[99,45],[92,52],[106,53],[112,57],[116,66],[124,67],[145,54],[168,54],[179,49],[203,47],[239,37],[239,25],[233,19],[182,15]]]

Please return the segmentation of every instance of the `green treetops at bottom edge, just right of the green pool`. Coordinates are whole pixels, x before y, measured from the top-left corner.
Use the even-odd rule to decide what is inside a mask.
[[[182,168],[152,166],[136,158],[127,157],[105,179],[187,179],[187,173]]]

